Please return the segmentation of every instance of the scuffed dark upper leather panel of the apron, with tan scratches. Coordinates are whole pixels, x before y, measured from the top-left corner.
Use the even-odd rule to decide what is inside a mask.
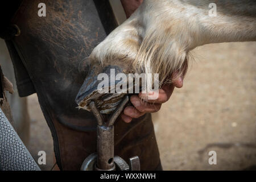
[[[28,71],[40,104],[49,115],[73,129],[95,126],[91,113],[75,103],[89,71],[86,57],[106,34],[92,1],[44,1],[46,17],[38,16],[42,1],[23,1],[12,23],[21,31],[14,46]]]

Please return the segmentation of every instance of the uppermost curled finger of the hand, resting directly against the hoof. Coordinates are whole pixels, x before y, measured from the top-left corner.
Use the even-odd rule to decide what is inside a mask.
[[[148,98],[148,94],[144,93],[139,93],[139,98],[141,98],[144,101],[147,101],[149,103],[154,103],[154,104],[163,104],[164,102],[167,102],[169,98],[171,97],[172,92],[174,91],[174,85],[169,84],[169,85],[164,85],[162,89],[158,90],[158,97],[155,100],[150,100]],[[154,94],[156,94],[154,92]],[[151,97],[152,98],[152,97]]]

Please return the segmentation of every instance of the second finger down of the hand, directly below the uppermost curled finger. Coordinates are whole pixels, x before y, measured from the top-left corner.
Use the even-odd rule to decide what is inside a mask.
[[[141,113],[155,113],[156,111],[159,111],[161,107],[161,104],[142,102],[141,98],[135,95],[131,96],[130,101]]]

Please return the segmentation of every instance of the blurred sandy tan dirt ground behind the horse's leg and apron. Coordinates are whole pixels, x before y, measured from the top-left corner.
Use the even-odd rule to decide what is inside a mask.
[[[256,42],[196,48],[181,89],[152,114],[164,170],[236,170],[256,165]],[[51,133],[36,94],[28,97],[31,141],[53,165]],[[208,162],[216,151],[217,164]],[[255,168],[254,168],[255,169]]]

